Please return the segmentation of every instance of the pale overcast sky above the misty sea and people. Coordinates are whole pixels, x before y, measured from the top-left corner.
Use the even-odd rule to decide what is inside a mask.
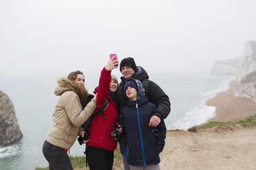
[[[117,53],[151,71],[210,71],[256,40],[255,0],[0,0],[0,73],[100,71]]]

